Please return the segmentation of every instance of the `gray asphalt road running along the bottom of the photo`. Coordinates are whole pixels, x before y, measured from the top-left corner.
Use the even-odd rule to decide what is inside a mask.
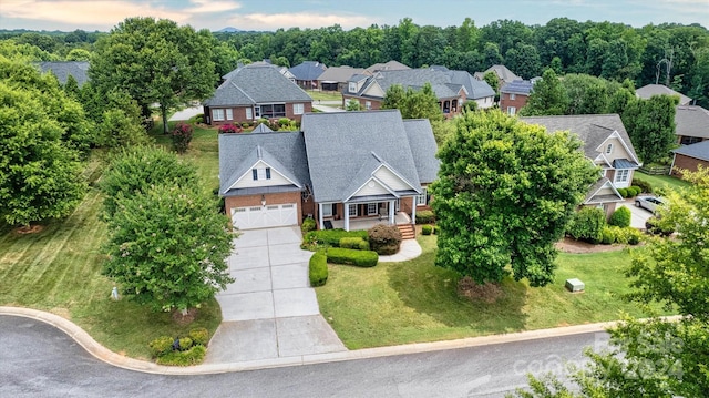
[[[605,333],[206,376],[160,376],[95,359],[44,323],[0,316],[0,397],[502,397],[526,374],[583,361]]]

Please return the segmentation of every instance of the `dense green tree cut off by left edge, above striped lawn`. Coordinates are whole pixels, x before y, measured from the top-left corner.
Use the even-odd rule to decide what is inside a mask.
[[[0,81],[0,215],[11,225],[66,216],[85,193],[79,153],[44,100]]]

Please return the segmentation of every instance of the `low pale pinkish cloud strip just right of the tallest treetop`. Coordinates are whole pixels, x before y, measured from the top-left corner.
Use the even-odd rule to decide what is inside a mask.
[[[356,27],[368,27],[377,23],[372,17],[356,14],[335,14],[316,12],[294,12],[294,13],[249,13],[229,20],[229,23],[239,29],[246,30],[275,30],[278,28],[322,28],[339,24],[343,29]]]

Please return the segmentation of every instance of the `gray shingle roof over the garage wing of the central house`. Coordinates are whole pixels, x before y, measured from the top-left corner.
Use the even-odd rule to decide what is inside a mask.
[[[259,159],[297,184],[310,184],[302,133],[219,134],[219,193],[230,196],[277,192],[284,188],[300,190],[296,186],[281,186],[228,191]]]

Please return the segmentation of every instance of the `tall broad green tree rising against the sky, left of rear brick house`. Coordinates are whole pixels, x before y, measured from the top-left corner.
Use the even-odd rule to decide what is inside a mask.
[[[127,18],[96,42],[89,74],[103,92],[124,90],[150,116],[160,104],[163,131],[167,112],[204,100],[217,82],[208,31],[195,32],[169,20]]]

